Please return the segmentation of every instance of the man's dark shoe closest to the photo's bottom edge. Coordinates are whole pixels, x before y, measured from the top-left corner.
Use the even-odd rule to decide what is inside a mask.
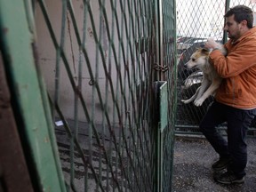
[[[244,177],[238,178],[233,172],[224,172],[213,177],[216,182],[221,184],[244,183]]]

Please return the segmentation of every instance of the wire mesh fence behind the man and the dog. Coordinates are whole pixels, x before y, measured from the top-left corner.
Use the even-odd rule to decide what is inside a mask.
[[[190,98],[202,80],[202,72],[184,68],[196,49],[203,46],[207,38],[212,37],[223,43],[224,14],[228,7],[244,4],[255,10],[253,0],[217,0],[217,1],[177,1],[177,119],[176,132],[200,133],[198,124],[203,118],[212,98],[204,101],[201,107],[193,103],[183,104],[181,99]],[[225,40],[225,39],[224,39]]]

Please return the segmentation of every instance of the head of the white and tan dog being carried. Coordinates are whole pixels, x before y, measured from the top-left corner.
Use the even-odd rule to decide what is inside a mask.
[[[184,65],[185,68],[203,68],[207,62],[210,51],[205,48],[199,48],[194,52],[190,60]]]

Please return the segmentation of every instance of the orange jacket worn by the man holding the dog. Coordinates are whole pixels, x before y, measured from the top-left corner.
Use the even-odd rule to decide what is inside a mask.
[[[256,27],[234,44],[228,40],[228,56],[220,51],[210,54],[210,61],[223,78],[215,99],[234,108],[256,108]]]

